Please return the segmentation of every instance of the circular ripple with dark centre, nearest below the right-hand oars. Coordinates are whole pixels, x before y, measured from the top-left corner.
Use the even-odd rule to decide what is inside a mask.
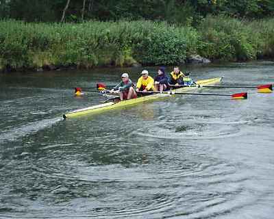
[[[241,136],[244,132],[240,126],[248,120],[227,120],[226,118],[188,118],[186,120],[154,120],[147,127],[140,127],[134,131],[143,137],[164,139],[212,139]]]

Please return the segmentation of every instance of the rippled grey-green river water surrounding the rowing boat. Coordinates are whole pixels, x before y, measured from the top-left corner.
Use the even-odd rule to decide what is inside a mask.
[[[141,69],[123,70],[135,81]],[[225,84],[274,82],[274,62],[188,70]],[[274,218],[274,94],[203,88],[249,98],[175,96],[62,121],[104,101],[75,98],[75,86],[120,74],[0,75],[0,218]]]

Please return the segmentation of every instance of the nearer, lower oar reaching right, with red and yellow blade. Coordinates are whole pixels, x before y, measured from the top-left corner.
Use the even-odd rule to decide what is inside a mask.
[[[148,91],[142,92],[138,91],[139,94],[177,94],[177,95],[200,95],[200,96],[230,96],[232,99],[247,99],[247,92],[237,93],[237,94],[214,94],[214,93],[190,93],[190,92],[175,92],[171,91]]]

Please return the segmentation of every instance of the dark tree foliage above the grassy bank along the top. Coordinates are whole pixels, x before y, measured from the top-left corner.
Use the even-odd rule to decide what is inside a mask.
[[[60,21],[68,0],[0,0],[0,18],[23,21]],[[236,18],[273,16],[273,0],[71,0],[65,21],[119,19],[196,24],[208,14]]]

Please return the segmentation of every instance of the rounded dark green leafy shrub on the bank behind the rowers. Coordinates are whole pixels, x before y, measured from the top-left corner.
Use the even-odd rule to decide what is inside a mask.
[[[152,28],[134,44],[134,57],[142,64],[179,64],[197,53],[199,34],[192,27],[153,23]]]

